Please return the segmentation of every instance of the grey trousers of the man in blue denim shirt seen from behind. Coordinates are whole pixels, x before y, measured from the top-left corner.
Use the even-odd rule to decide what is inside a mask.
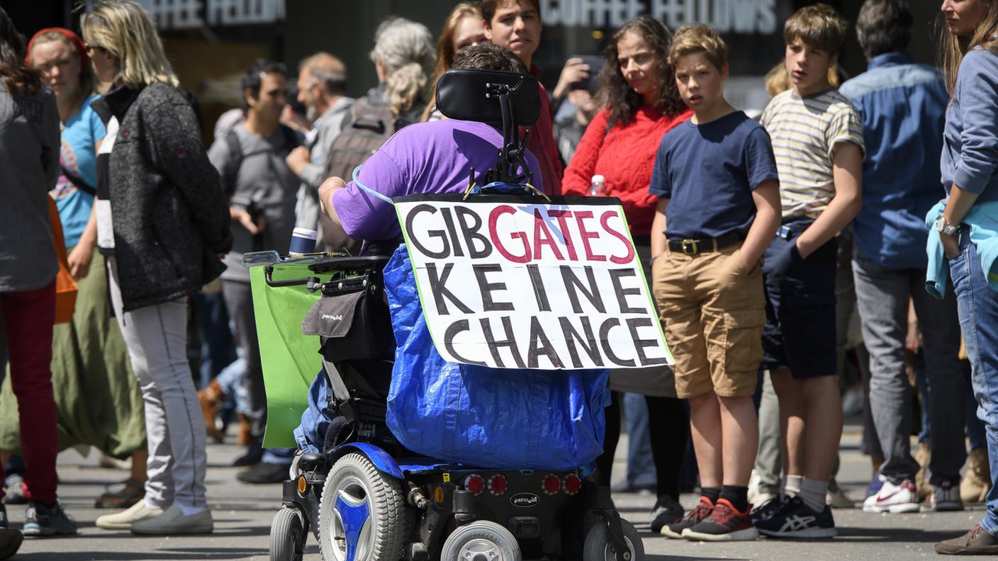
[[[911,389],[904,373],[908,299],[914,300],[929,380],[930,482],[958,483],[967,457],[963,441],[966,380],[957,357],[960,323],[953,286],[939,300],[925,291],[925,270],[887,269],[857,255],[852,262],[863,342],[870,354],[870,408],[883,448],[880,474],[894,483],[912,479]]]

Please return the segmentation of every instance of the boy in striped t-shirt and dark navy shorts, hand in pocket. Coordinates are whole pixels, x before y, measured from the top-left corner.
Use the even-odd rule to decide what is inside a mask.
[[[826,4],[798,10],[783,28],[792,88],[760,123],[772,139],[782,225],[765,251],[762,366],[779,398],[784,494],[753,512],[773,537],[827,538],[825,493],[842,431],[835,376],[836,237],[859,212],[863,160],[858,112],[828,83],[845,20]]]

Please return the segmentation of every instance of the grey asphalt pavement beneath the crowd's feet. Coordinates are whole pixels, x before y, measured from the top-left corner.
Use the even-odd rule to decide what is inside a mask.
[[[840,484],[854,499],[862,498],[869,481],[866,456],[857,451],[858,436],[846,428],[839,474]],[[627,437],[617,448],[615,476],[624,473]],[[236,479],[240,468],[230,467],[241,449],[236,444],[210,444],[208,457],[208,496],[215,517],[215,533],[207,536],[137,537],[129,532],[112,532],[94,526],[94,520],[109,511],[93,508],[93,501],[109,482],[128,477],[124,470],[98,467],[97,454],[83,457],[74,449],[59,456],[59,494],[68,511],[76,517],[76,536],[25,540],[14,557],[20,561],[188,561],[195,559],[266,560],[269,527],[280,506],[279,485],[247,485]],[[669,540],[649,530],[652,495],[616,493],[614,501],[621,514],[635,523],[649,561],[694,561],[707,559],[821,561],[825,559],[933,558],[932,546],[939,540],[970,529],[983,514],[978,506],[962,512],[912,514],[871,514],[860,508],[836,509],[839,536],[823,541],[779,541],[704,543]],[[694,506],[692,494],[682,497],[688,509]],[[857,503],[858,506],[858,503]],[[12,527],[24,520],[23,507],[8,506]],[[320,561],[318,545],[309,536],[306,561]]]

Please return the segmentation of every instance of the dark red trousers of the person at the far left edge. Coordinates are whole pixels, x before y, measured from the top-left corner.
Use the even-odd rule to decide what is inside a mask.
[[[52,325],[56,316],[55,282],[24,292],[0,292],[7,331],[10,381],[21,417],[24,496],[32,502],[56,500],[56,402],[52,396]],[[0,464],[0,483],[3,482]],[[0,498],[4,492],[0,485]]]

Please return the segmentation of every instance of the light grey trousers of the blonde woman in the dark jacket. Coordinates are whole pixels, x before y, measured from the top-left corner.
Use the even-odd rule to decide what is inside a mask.
[[[123,311],[118,263],[115,258],[107,263],[111,304],[145,402],[146,504],[203,510],[208,507],[205,417],[187,359],[186,298]]]

